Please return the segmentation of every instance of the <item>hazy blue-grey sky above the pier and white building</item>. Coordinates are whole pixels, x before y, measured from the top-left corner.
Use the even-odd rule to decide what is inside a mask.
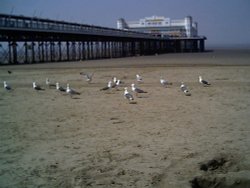
[[[207,45],[250,45],[250,0],[0,0],[0,13],[113,28],[121,17],[190,15]]]

